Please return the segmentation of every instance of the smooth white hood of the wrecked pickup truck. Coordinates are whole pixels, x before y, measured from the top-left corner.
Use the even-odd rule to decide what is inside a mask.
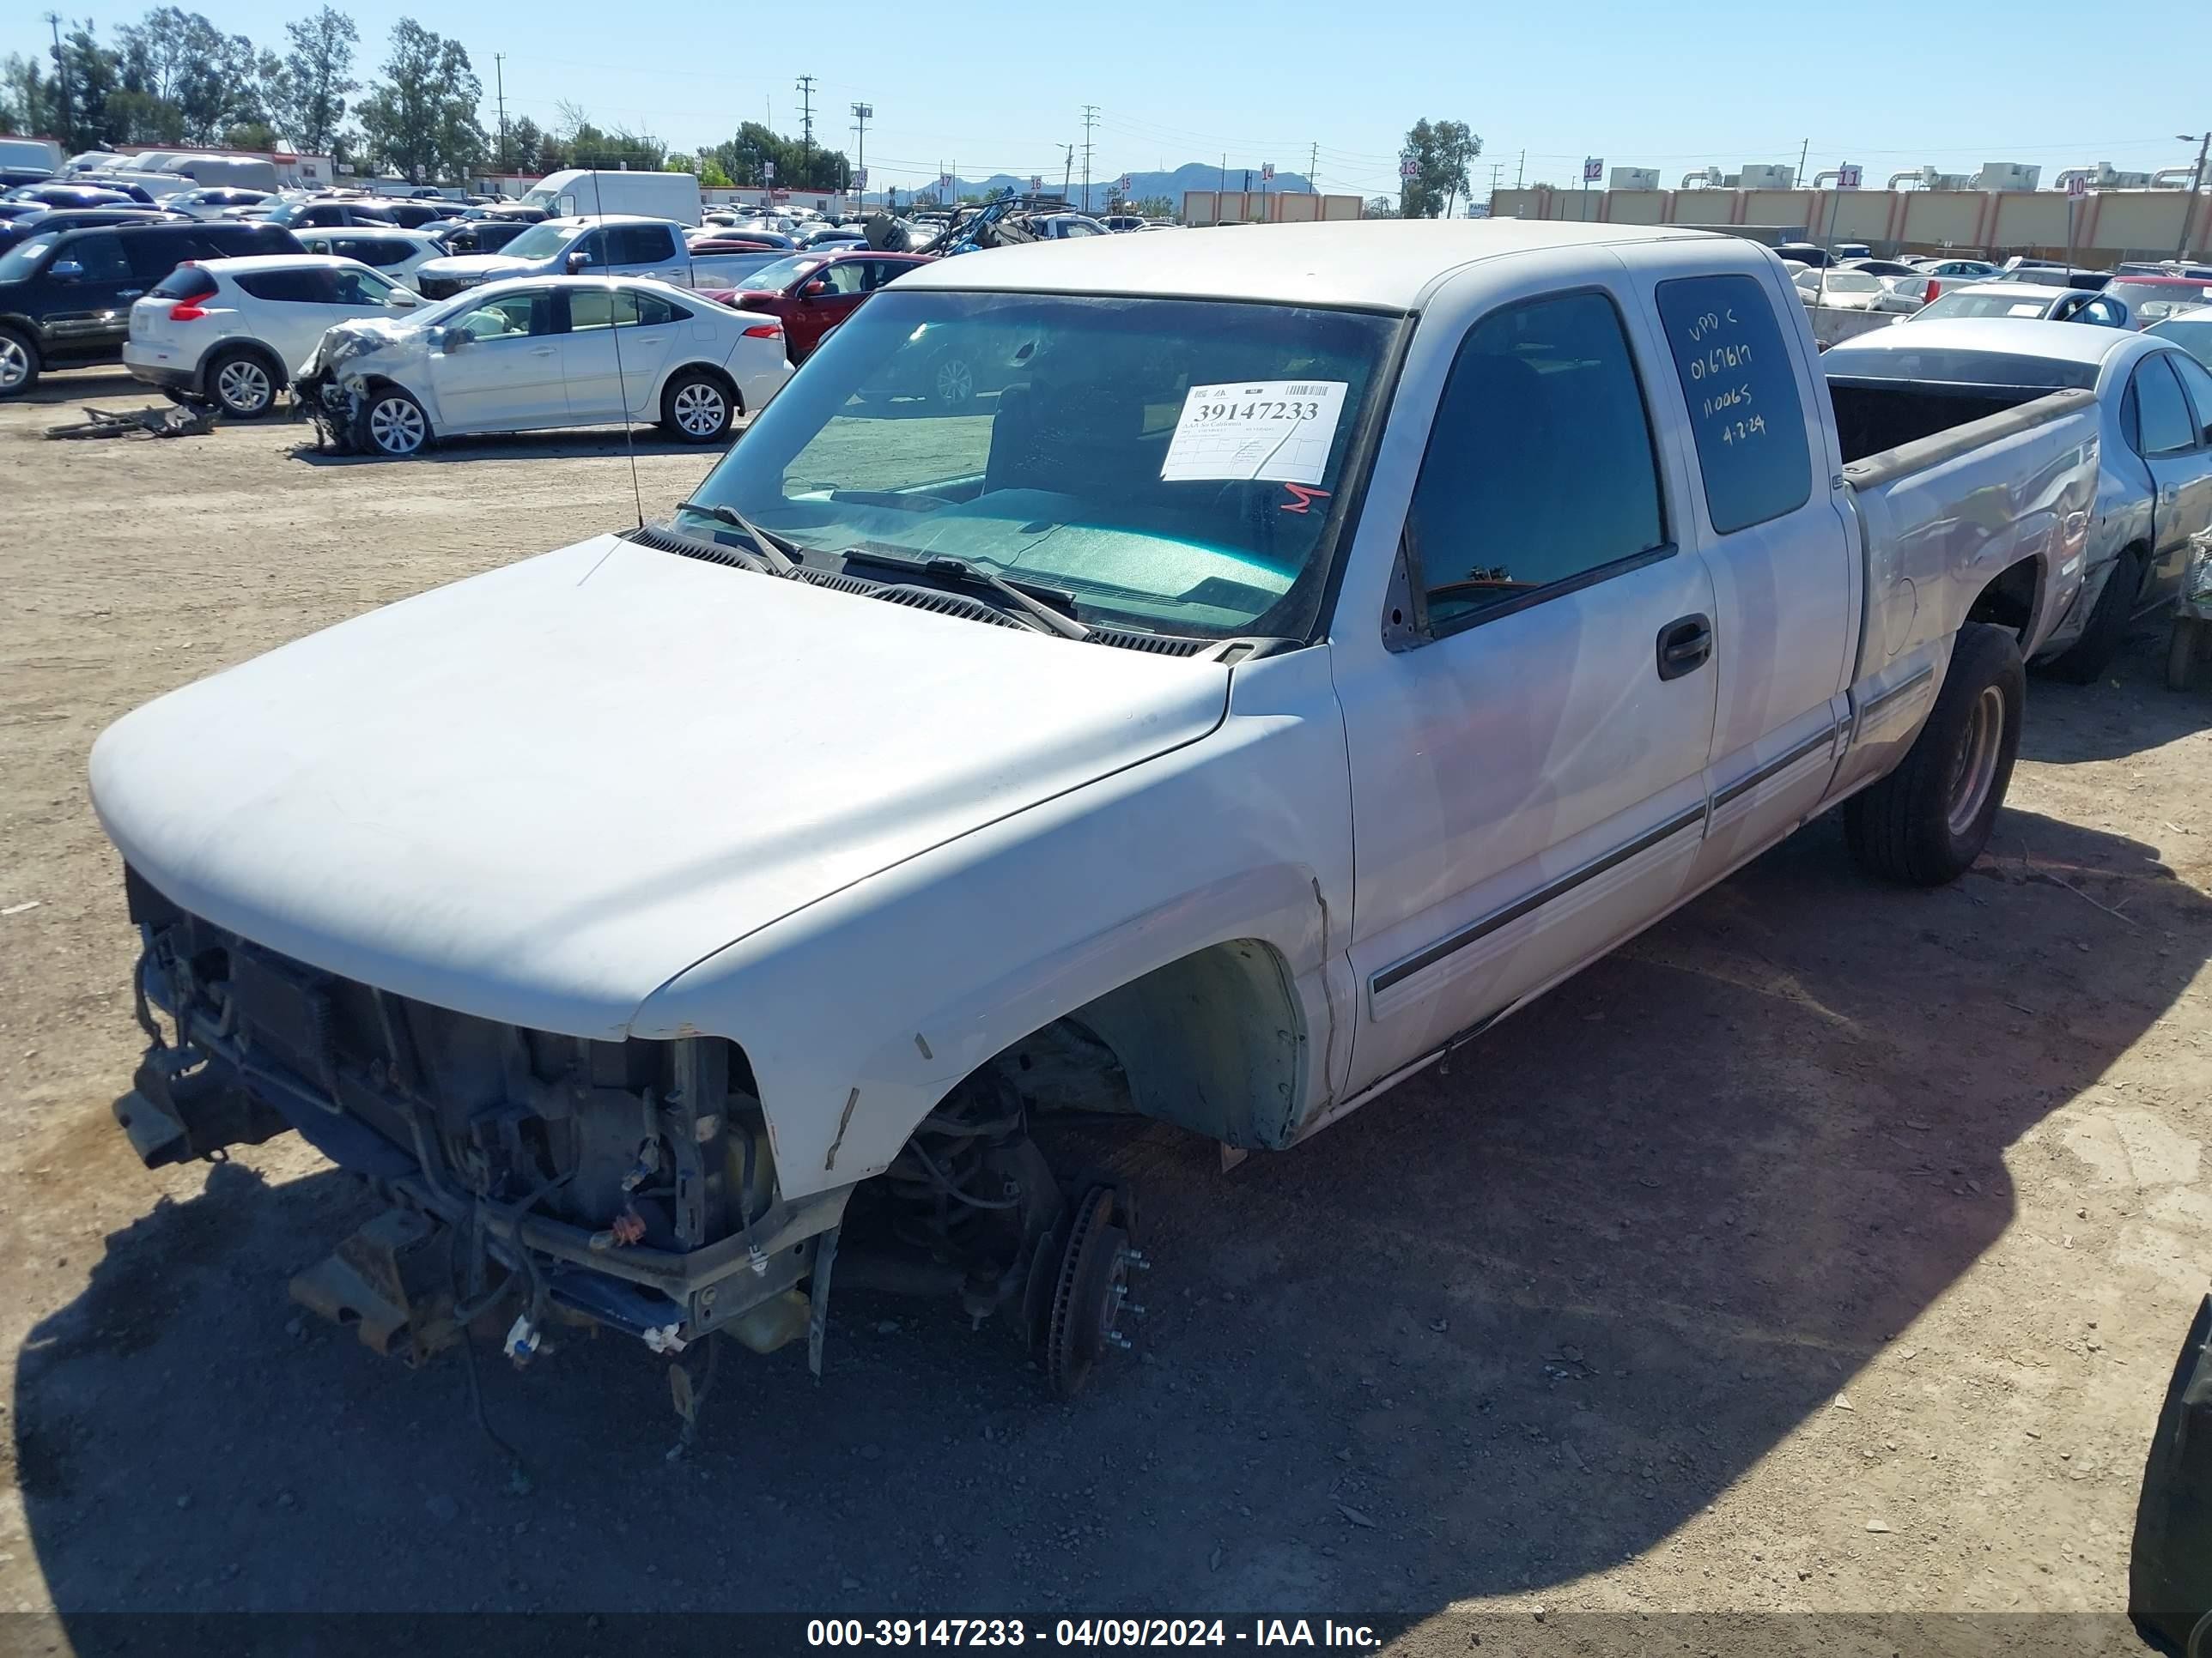
[[[91,785],[217,926],[617,1039],[726,944],[1206,736],[1228,679],[602,535],[170,692]]]

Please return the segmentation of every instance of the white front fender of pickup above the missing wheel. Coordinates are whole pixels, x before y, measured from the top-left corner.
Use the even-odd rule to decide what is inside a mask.
[[[1066,646],[1084,650],[1091,646]],[[1250,940],[1294,1054],[1270,1101],[1157,1112],[1285,1143],[1349,1061],[1352,798],[1327,648],[1239,668],[1223,725],[832,893],[655,990],[633,1037],[752,1063],[785,1198],[889,1165],[962,1077],[1192,953]],[[1334,968],[1334,973],[1332,973]],[[1194,997],[1194,1006],[1206,1006]]]

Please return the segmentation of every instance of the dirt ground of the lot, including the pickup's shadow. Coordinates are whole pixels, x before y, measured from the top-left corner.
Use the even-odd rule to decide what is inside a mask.
[[[520,1492],[453,1355],[409,1375],[288,1304],[367,1214],[345,1176],[292,1136],[131,1156],[84,758],[161,690],[626,524],[630,466],[602,433],[42,442],[84,398],[146,402],[0,405],[0,1612],[80,1645],[117,1609],[1334,1614],[1464,1651],[1475,1614],[2126,1605],[2212,1262],[2212,690],[2166,692],[2150,634],[2031,683],[1947,891],[1867,884],[1820,822],[1296,1152],[1126,1138],[1150,1315],[1079,1404],[1000,1331],[845,1295],[823,1382],[728,1353],[681,1461],[644,1349],[491,1357]],[[641,442],[646,511],[706,469]]]

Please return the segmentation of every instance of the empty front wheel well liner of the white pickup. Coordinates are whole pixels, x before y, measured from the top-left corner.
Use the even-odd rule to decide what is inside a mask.
[[[1292,975],[1261,940],[1228,940],[1068,1010],[980,1066],[1040,1114],[1117,1112],[1234,1147],[1298,1127],[1310,1043]]]

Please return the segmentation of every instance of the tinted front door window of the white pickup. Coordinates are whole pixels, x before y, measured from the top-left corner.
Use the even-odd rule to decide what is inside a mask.
[[[1405,533],[1438,628],[1666,544],[1644,387],[1610,298],[1562,294],[1475,325]]]

